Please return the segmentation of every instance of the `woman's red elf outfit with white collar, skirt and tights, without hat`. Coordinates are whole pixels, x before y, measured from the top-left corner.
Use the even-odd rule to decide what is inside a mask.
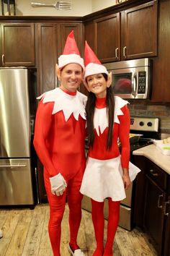
[[[91,197],[92,221],[97,242],[93,256],[112,256],[112,244],[120,218],[120,200],[125,189],[120,168],[128,168],[130,157],[130,116],[127,101],[115,96],[115,114],[112,131],[112,147],[107,150],[107,108],[105,98],[96,99],[94,110],[94,145],[89,148],[89,158],[81,184],[81,193]],[[119,138],[122,151],[117,145]],[[108,198],[109,216],[107,242],[104,247],[104,199]]]

